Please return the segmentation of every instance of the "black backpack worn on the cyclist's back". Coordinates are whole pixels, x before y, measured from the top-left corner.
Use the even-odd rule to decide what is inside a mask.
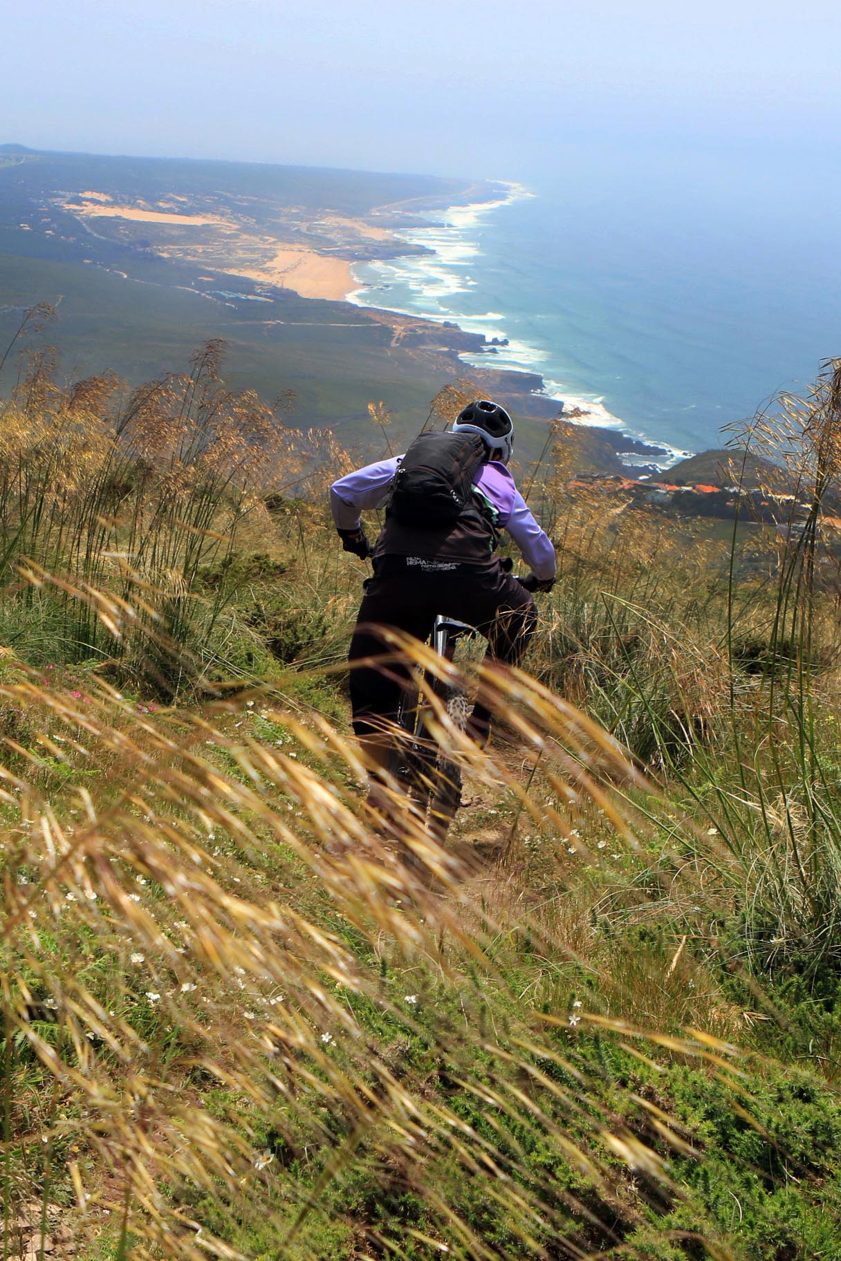
[[[420,434],[397,467],[387,513],[403,526],[454,526],[474,507],[473,479],[487,458],[478,434]]]

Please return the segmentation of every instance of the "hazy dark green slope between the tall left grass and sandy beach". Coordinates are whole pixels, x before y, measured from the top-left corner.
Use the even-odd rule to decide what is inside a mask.
[[[72,380],[111,369],[139,383],[180,371],[197,346],[222,337],[233,388],[250,386],[269,400],[291,388],[295,424],[349,427],[351,440],[371,398],[383,398],[411,426],[446,380],[406,357],[396,362],[388,330],[358,327],[345,304],[290,298],[272,317],[301,323],[265,328],[258,311],[235,311],[194,294],[58,262],[0,255],[0,276],[9,306],[42,299],[58,304],[53,335],[61,342],[62,371]],[[19,310],[0,313],[0,340],[9,340],[19,319]]]

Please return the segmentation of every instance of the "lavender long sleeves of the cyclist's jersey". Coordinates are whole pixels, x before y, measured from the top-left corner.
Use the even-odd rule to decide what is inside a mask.
[[[358,530],[361,512],[383,507],[401,459],[395,455],[378,460],[333,483],[330,509],[337,530]],[[555,549],[528,511],[506,465],[496,460],[482,464],[473,484],[494,509],[497,525],[508,531],[532,572],[540,579],[555,578]]]

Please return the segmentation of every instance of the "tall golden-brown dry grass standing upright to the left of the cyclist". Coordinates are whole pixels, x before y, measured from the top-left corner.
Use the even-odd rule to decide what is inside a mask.
[[[222,349],[134,391],[113,377],[62,387],[52,357],[32,357],[0,409],[8,643],[111,661],[164,699],[236,672],[226,614],[242,530],[271,527],[267,485],[275,499],[311,491],[337,453],[228,391]]]

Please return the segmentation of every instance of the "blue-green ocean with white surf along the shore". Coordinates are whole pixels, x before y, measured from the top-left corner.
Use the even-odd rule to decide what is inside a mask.
[[[668,448],[663,467],[841,356],[826,173],[774,154],[561,165],[425,213],[401,235],[432,252],[356,266],[352,300],[508,338],[473,362],[540,372],[584,422]]]

